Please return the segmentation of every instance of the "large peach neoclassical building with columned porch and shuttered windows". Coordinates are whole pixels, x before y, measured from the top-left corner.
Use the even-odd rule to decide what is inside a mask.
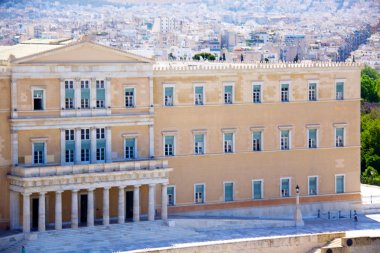
[[[296,185],[306,216],[360,208],[360,64],[24,47],[0,48],[3,228],[289,217]]]

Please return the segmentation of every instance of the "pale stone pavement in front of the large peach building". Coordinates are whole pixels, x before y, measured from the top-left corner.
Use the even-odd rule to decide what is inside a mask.
[[[359,222],[352,219],[305,220],[304,227],[283,228],[229,228],[218,230],[197,230],[168,227],[162,221],[142,221],[138,223],[113,224],[109,227],[95,226],[61,231],[35,232],[38,239],[23,242],[27,253],[33,252],[116,252],[145,248],[168,247],[178,244],[221,241],[239,238],[258,238],[311,234],[334,231],[372,230],[380,232],[380,214],[359,216]],[[368,233],[368,232],[367,232]],[[371,232],[372,233],[372,232]],[[21,244],[6,253],[21,252]]]

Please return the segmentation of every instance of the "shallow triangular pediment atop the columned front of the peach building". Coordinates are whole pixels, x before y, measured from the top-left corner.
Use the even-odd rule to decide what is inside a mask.
[[[153,60],[93,42],[79,42],[15,59],[16,64],[153,63]]]

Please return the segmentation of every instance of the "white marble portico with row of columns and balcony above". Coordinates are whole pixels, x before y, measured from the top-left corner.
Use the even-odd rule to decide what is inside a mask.
[[[81,170],[80,170],[81,169]],[[110,164],[87,164],[57,167],[14,167],[9,176],[11,182],[12,203],[18,203],[18,198],[22,196],[22,210],[19,205],[11,205],[12,228],[19,224],[19,215],[22,214],[23,232],[31,231],[31,195],[38,194],[38,231],[46,230],[46,216],[49,210],[45,210],[45,196],[55,195],[55,203],[50,203],[48,208],[54,207],[54,228],[62,229],[63,226],[63,206],[70,208],[70,226],[78,228],[80,225],[80,208],[86,208],[86,225],[95,225],[95,191],[102,201],[101,223],[109,225],[110,219],[110,198],[113,189],[117,189],[117,222],[119,224],[126,221],[126,189],[133,189],[133,221],[137,222],[141,217],[141,194],[140,189],[147,187],[148,190],[148,220],[155,219],[156,194],[155,190],[161,189],[161,196],[166,196],[166,185],[168,174],[171,171],[167,167],[167,161],[145,160],[130,161]],[[81,172],[78,173],[77,172]],[[63,193],[70,192],[69,201],[63,201]],[[113,191],[114,192],[114,191]],[[79,194],[87,195],[87,203],[80,200]],[[161,218],[167,219],[167,199],[162,198],[160,203]],[[69,202],[69,203],[67,203]],[[83,210],[81,210],[83,211]]]

